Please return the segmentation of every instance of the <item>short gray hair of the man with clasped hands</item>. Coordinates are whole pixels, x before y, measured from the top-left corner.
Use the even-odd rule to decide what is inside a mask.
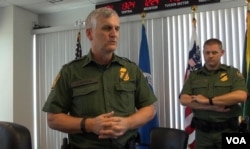
[[[85,28],[95,28],[96,19],[98,17],[109,18],[110,16],[118,16],[117,12],[108,7],[101,7],[93,10],[85,20]]]

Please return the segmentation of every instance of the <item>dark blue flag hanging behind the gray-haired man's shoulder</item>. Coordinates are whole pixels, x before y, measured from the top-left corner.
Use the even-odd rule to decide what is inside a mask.
[[[139,55],[139,67],[143,71],[143,75],[145,76],[150,88],[152,87],[152,77],[150,71],[150,61],[149,61],[149,50],[148,50],[148,41],[145,31],[145,26],[142,24],[141,30],[141,46],[140,46],[140,55]],[[150,130],[153,127],[159,127],[158,116],[149,121],[147,124],[139,128],[140,141],[139,149],[149,149],[150,143]]]

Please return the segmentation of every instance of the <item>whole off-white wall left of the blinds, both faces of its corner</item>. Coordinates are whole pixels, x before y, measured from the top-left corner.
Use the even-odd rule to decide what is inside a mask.
[[[15,6],[0,8],[0,121],[26,126],[32,138],[32,27],[37,20],[38,15]]]

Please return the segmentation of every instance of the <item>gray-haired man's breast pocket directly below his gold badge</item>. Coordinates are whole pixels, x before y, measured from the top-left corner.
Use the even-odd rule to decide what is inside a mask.
[[[132,113],[135,110],[135,83],[132,81],[121,82],[115,85],[117,110]]]

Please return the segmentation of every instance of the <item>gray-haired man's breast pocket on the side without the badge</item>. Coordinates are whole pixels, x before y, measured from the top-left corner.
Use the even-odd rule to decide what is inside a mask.
[[[101,113],[98,98],[98,83],[85,84],[73,88],[72,111],[79,116],[95,116]]]

